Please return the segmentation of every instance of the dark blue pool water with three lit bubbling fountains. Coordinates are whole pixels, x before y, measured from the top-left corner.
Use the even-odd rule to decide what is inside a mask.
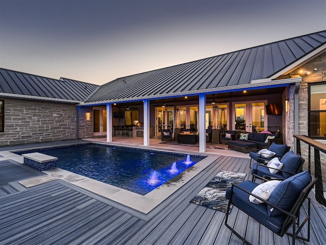
[[[37,152],[58,157],[59,168],[142,195],[171,180],[204,158],[191,156],[192,163],[185,164],[187,155],[184,154],[99,144],[37,150]],[[171,171],[172,165],[174,171]],[[157,176],[154,181],[151,178],[153,173]]]

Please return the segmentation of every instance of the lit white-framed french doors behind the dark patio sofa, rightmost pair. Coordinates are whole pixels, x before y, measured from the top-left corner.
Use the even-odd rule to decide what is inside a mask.
[[[244,130],[246,132],[261,131],[266,127],[267,115],[265,105],[267,101],[233,102],[232,130]]]

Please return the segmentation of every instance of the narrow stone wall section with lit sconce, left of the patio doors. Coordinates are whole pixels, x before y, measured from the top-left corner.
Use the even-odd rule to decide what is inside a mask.
[[[78,139],[93,138],[93,107],[78,106]],[[89,112],[89,117],[88,113]]]

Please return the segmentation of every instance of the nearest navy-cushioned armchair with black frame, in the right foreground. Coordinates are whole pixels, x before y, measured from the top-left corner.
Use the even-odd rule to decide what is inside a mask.
[[[273,231],[275,234],[283,237],[284,234],[292,236],[292,244],[295,244],[296,238],[305,241],[310,240],[310,199],[308,194],[313,188],[316,179],[311,180],[308,171],[303,171],[296,174],[282,182],[271,192],[270,197],[267,201],[261,199],[257,195],[251,193],[255,187],[259,184],[252,181],[244,181],[239,184],[232,184],[226,192],[226,198],[229,200],[228,209],[226,212],[225,225],[231,230],[237,237],[239,237],[244,243],[251,244],[236,232],[228,224],[230,205],[233,204],[242,212],[248,214],[254,218],[261,225],[267,229]],[[256,199],[262,201],[261,204],[255,204],[249,201],[250,195],[253,195]],[[300,209],[305,202],[308,200],[308,210],[306,212],[300,212]],[[305,215],[303,217],[303,215]],[[300,224],[300,219],[303,218],[303,222]],[[235,219],[235,222],[237,220]],[[302,232],[302,228],[308,224],[307,237],[298,236]],[[289,228],[292,229],[289,230]],[[289,230],[289,232],[288,232]],[[241,233],[242,234],[242,233]],[[257,232],[259,235],[259,231]]]

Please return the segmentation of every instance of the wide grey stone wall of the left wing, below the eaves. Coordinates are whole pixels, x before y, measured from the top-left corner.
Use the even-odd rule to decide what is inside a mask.
[[[0,146],[76,138],[76,106],[35,100],[5,101]]]

